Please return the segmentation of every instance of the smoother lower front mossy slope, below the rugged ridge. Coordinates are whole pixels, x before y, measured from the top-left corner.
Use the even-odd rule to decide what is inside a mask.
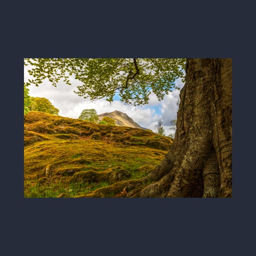
[[[87,195],[97,186],[111,186],[122,179],[143,178],[166,154],[150,148],[145,152],[144,149],[93,140],[58,139],[33,143],[24,148],[24,196]],[[120,171],[126,173],[118,178]],[[113,177],[114,174],[117,178]],[[76,193],[68,193],[70,188]],[[35,190],[41,192],[33,194]],[[52,194],[49,195],[50,191]]]

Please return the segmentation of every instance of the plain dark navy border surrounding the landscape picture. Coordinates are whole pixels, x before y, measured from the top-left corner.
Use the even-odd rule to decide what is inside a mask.
[[[255,102],[254,8],[227,2],[3,6],[1,211],[7,255],[16,250],[26,255],[250,254],[255,167],[249,160],[255,150],[248,151],[247,141],[254,144],[255,137],[249,113]],[[233,198],[25,199],[23,59],[134,56],[232,58]]]

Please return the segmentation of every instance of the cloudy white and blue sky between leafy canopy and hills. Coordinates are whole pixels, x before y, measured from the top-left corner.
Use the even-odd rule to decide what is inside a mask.
[[[30,77],[27,72],[28,69],[30,69],[29,66],[24,67],[25,82]],[[140,126],[148,128],[153,132],[155,132],[155,126],[158,120],[162,118],[164,121],[165,135],[173,133],[169,129],[169,125],[170,120],[174,119],[177,112],[176,102],[179,98],[179,90],[174,90],[168,95],[165,95],[161,101],[158,101],[156,95],[150,94],[149,104],[144,106],[128,106],[119,100],[114,100],[111,103],[105,99],[90,102],[90,100],[84,99],[74,93],[74,91],[78,91],[77,86],[81,85],[81,82],[73,77],[70,78],[70,82],[72,84],[71,86],[60,81],[57,87],[54,87],[47,79],[39,87],[30,85],[28,87],[29,95],[32,97],[47,98],[59,109],[59,115],[63,117],[78,118],[83,109],[90,108],[95,108],[98,114],[118,110],[126,113]],[[176,86],[180,89],[184,86],[180,78],[176,80]]]

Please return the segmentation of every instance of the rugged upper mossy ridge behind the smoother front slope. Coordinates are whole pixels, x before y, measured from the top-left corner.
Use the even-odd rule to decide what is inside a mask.
[[[172,144],[172,139],[156,135],[150,130],[95,124],[38,111],[31,111],[24,115],[24,136],[25,145],[53,139],[52,136],[56,139],[94,139],[119,142],[124,145],[139,144],[164,151],[169,150]]]

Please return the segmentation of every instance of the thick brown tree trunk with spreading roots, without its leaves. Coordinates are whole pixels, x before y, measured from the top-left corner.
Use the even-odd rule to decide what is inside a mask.
[[[232,60],[187,59],[174,143],[127,197],[232,197]]]

